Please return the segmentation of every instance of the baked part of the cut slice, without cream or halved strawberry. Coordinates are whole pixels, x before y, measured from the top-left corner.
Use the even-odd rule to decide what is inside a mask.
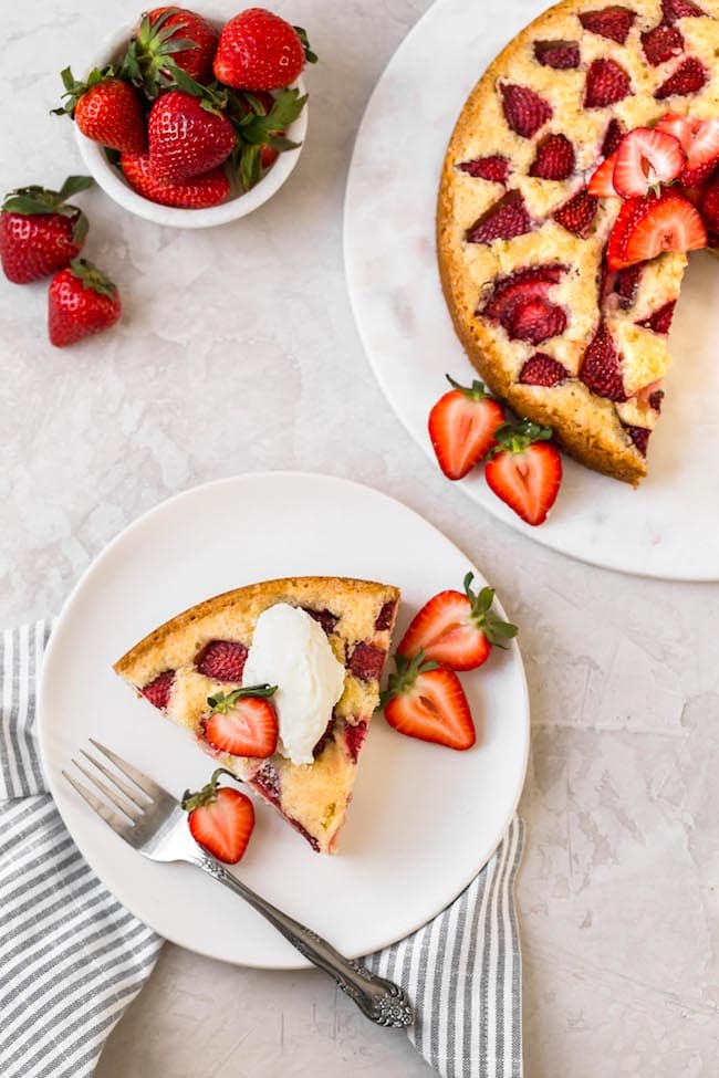
[[[322,852],[336,848],[356,764],[379,701],[399,592],[344,577],[292,577],[237,588],[159,626],[115,663],[115,671],[173,722],[185,726],[221,766],[248,782]],[[254,626],[283,603],[306,610],[345,667],[335,704],[312,764],[279,752],[268,760],[232,756],[205,735],[208,697],[242,684]]]

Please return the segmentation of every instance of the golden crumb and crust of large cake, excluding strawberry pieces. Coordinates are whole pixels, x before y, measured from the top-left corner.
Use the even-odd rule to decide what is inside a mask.
[[[666,112],[691,113],[701,118],[719,115],[718,0],[702,2],[704,18],[682,18],[676,25],[684,34],[687,53],[698,56],[710,71],[705,88],[691,96],[671,96],[659,101],[654,91],[676,66],[668,61],[656,67],[644,61],[639,34],[663,19],[659,0],[642,3],[621,2],[635,15],[625,44],[618,44],[586,32],[577,14],[598,11],[608,3],[591,0],[563,0],[527,25],[496,57],[469,95],[454,128],[444,160],[437,203],[437,252],[442,291],[457,335],[473,366],[489,388],[521,416],[554,428],[563,449],[583,464],[629,483],[638,483],[646,473],[645,459],[625,430],[624,416],[642,418],[639,426],[652,429],[657,412],[636,405],[629,407],[592,393],[576,377],[582,355],[605,317],[598,301],[602,254],[621,200],[602,199],[593,231],[585,239],[567,232],[551,214],[581,190],[601,161],[598,147],[612,117],[625,129],[652,124]],[[538,40],[579,41],[581,69],[555,70],[541,66],[533,56]],[[587,64],[608,56],[629,74],[633,94],[607,107],[584,111],[580,107]],[[576,151],[576,171],[563,181],[531,178],[527,175],[536,149],[536,138],[523,138],[511,130],[504,119],[498,84],[517,83],[534,90],[553,107],[552,119],[540,128],[540,135],[566,134]],[[540,226],[532,232],[489,244],[466,242],[465,233],[473,221],[499,200],[504,187],[498,182],[470,177],[456,166],[478,156],[501,154],[513,166],[507,189],[519,190],[533,220]],[[478,250],[479,249],[479,250]],[[636,391],[634,383],[658,381],[668,366],[666,336],[636,326],[663,303],[676,299],[686,257],[666,254],[650,263],[652,272],[643,282],[633,314],[614,312],[608,316],[612,331],[625,344],[627,396]],[[480,301],[497,279],[514,269],[562,263],[569,266],[562,284],[554,289],[558,302],[571,312],[570,325],[562,337],[539,346],[510,341],[500,326],[477,316]],[[626,323],[626,325],[625,325]],[[631,323],[631,324],[629,324]],[[534,352],[549,353],[563,364],[571,379],[553,388],[519,381],[523,362]]]

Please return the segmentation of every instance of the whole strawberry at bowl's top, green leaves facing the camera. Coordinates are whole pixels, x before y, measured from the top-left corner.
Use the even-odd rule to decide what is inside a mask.
[[[150,100],[171,84],[174,66],[208,83],[217,40],[215,27],[188,8],[153,8],[129,41],[122,74]]]

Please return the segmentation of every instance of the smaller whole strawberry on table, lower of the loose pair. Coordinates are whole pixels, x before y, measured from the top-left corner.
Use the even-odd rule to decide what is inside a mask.
[[[50,282],[48,328],[58,348],[110,329],[121,312],[115,285],[84,259],[73,259]]]

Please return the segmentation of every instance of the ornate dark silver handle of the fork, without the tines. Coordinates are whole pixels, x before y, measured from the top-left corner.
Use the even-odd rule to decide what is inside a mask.
[[[192,864],[219,880],[225,887],[243,898],[246,902],[281,932],[295,950],[320,970],[324,970],[342,991],[357,1004],[372,1022],[379,1026],[404,1028],[414,1022],[414,1012],[404,988],[371,973],[354,959],[345,959],[331,943],[268,902],[251,890],[204,850],[192,857]]]

